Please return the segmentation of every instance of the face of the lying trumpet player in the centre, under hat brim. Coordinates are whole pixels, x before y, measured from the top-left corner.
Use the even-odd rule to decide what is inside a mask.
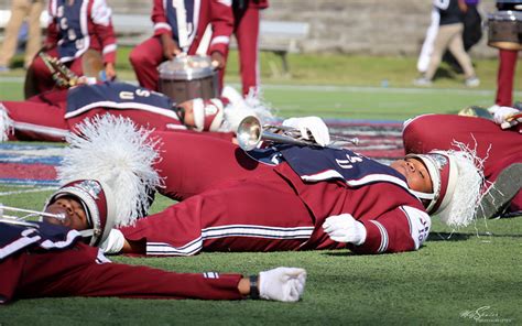
[[[432,177],[422,161],[406,157],[392,162],[390,166],[406,177],[407,186],[411,189],[421,193],[433,192]]]

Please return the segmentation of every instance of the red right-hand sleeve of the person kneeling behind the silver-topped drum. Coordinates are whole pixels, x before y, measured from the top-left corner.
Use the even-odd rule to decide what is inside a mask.
[[[213,39],[208,53],[219,52],[226,54],[233,31],[233,12],[230,4],[224,1],[210,0],[210,23],[213,25]]]

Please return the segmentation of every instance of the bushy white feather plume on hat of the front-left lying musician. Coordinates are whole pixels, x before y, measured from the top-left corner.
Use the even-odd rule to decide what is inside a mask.
[[[132,225],[150,206],[148,191],[162,185],[153,169],[160,159],[152,130],[130,119],[105,115],[77,126],[57,167],[62,183],[98,180],[109,186],[116,205],[116,226]]]

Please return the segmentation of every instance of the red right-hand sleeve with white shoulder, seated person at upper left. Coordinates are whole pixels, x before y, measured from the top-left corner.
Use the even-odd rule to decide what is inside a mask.
[[[94,0],[89,7],[89,18],[94,24],[94,34],[101,44],[104,63],[116,62],[116,35],[112,26],[112,11],[105,0]]]

